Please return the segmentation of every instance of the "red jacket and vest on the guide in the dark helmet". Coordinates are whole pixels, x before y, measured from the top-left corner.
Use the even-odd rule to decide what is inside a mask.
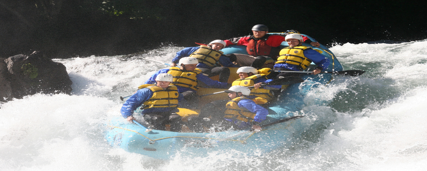
[[[284,34],[286,36],[288,33]],[[236,44],[247,46],[246,52],[252,56],[269,56],[272,47],[278,47],[285,41],[285,37],[282,35],[270,35],[266,34],[262,38],[254,38],[253,35],[247,35],[245,37],[231,38],[225,40],[226,46]],[[302,36],[305,43],[311,43],[309,38]]]

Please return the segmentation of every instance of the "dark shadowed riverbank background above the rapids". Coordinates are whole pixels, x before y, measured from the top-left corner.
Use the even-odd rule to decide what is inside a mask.
[[[249,35],[255,24],[320,43],[427,38],[427,1],[0,0],[0,57],[124,55]]]

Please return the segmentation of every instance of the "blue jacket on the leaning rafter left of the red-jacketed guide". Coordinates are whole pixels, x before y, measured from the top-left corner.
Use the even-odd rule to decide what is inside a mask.
[[[191,55],[191,53],[196,52],[200,47],[187,47],[183,50],[180,50],[176,53],[176,56],[172,59],[172,63],[178,63],[179,59],[188,57]],[[239,65],[233,64],[233,62],[230,61],[230,59],[227,56],[219,56],[218,63],[221,64],[224,67],[240,67]],[[197,68],[208,68],[211,69],[212,67],[209,67],[208,65],[204,64],[203,62],[199,62],[197,64]]]

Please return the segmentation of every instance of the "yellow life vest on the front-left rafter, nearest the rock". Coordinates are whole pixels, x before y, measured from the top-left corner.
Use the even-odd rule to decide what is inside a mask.
[[[178,89],[175,85],[169,85],[167,88],[161,88],[157,85],[144,84],[140,87],[149,88],[153,91],[153,96],[143,103],[142,109],[152,107],[178,107]]]

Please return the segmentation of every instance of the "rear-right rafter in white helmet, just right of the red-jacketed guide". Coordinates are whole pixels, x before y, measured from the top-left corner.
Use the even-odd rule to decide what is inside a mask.
[[[288,34],[285,37],[289,47],[283,48],[279,52],[277,62],[275,62],[273,71],[303,71],[311,62],[317,65],[313,70],[313,75],[319,74],[329,66],[329,59],[311,47],[303,46],[303,38],[299,34]],[[271,72],[267,78],[274,79],[289,76],[298,76],[298,73],[290,72]]]

